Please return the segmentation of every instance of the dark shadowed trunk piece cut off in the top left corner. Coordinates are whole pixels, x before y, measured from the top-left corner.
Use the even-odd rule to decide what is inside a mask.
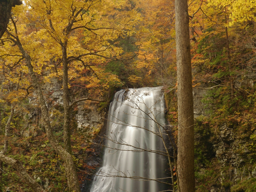
[[[0,1],[0,38],[3,36],[5,29],[9,23],[12,7],[21,5],[20,0],[1,0]]]

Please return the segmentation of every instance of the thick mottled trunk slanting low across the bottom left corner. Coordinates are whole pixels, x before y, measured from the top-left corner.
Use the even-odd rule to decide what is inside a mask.
[[[3,155],[3,153],[0,153],[0,161],[12,166],[12,168],[15,168],[19,171],[20,177],[28,184],[29,187],[31,187],[35,192],[45,192],[45,190],[35,181],[35,179],[31,178],[28,173],[26,172],[26,169],[22,166],[22,164],[10,157],[7,157]]]

